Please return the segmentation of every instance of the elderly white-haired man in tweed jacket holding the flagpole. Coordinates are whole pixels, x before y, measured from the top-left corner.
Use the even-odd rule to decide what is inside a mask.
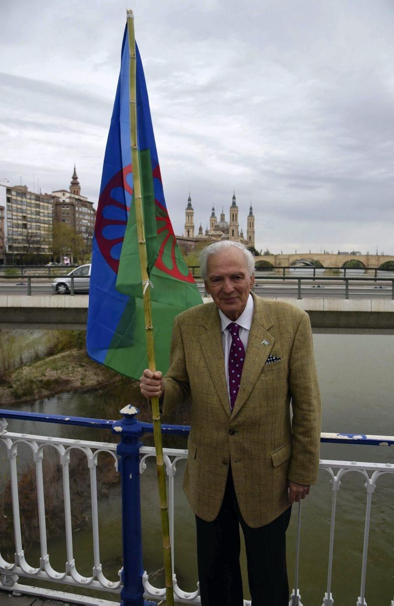
[[[196,516],[202,606],[243,604],[239,525],[252,606],[287,606],[291,504],[318,472],[309,316],[251,292],[254,259],[242,244],[212,244],[200,264],[213,302],[175,318],[169,371],[162,379],[145,370],[141,392],[160,396],[163,413],[192,404],[184,490]]]

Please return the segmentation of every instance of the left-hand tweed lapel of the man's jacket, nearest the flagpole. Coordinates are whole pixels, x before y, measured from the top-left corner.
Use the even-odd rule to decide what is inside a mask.
[[[225,382],[221,321],[215,306],[212,306],[209,311],[210,313],[207,313],[202,321],[205,331],[200,336],[200,344],[221,404],[230,417],[229,392]]]

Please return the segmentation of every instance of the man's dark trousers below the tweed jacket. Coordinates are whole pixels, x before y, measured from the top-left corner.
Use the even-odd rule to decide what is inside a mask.
[[[289,507],[266,526],[247,526],[239,511],[230,468],[218,517],[213,522],[205,522],[196,516],[201,606],[244,604],[239,566],[239,524],[245,539],[252,606],[289,604],[285,532],[291,510]]]

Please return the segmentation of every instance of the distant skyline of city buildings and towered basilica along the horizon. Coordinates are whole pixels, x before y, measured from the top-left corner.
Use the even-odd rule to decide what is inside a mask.
[[[248,204],[246,204],[247,208]],[[250,247],[255,255],[259,251],[255,249],[255,216],[253,215],[252,204],[249,205],[249,213],[244,215],[244,222],[240,221],[241,213],[236,201],[235,192],[233,193],[229,204],[229,220],[227,221],[224,208],[221,208],[219,219],[216,216],[215,204],[206,221],[199,221],[198,230],[196,230],[195,211],[192,205],[192,198],[189,193],[187,205],[185,207],[184,231],[176,236],[178,243],[187,253],[196,248],[196,245],[208,245],[210,242],[220,240],[231,240],[241,242]],[[85,242],[86,250],[90,250],[92,245],[93,233],[95,228],[96,210],[93,208],[93,202],[86,196],[81,195],[81,185],[79,183],[76,167],[74,165],[73,175],[68,189],[62,188],[53,190],[51,193],[41,193],[30,191],[27,185],[9,185],[0,182],[0,265],[22,262],[22,258],[28,255],[41,256],[41,259],[50,260],[53,258],[53,228],[56,224],[68,225]],[[205,223],[205,229],[202,227]],[[245,231],[243,227],[246,227]],[[298,251],[295,250],[295,255]],[[321,255],[341,255],[352,257],[364,256],[359,250],[338,250],[338,252],[329,250],[320,250],[313,253],[309,250],[299,251],[299,254],[315,255],[316,258]],[[384,251],[372,255],[385,256]],[[268,249],[260,251],[261,256],[282,257],[282,261],[294,259],[294,253],[285,253],[273,255]],[[366,256],[370,252],[367,251]],[[58,255],[59,261],[63,261]]]

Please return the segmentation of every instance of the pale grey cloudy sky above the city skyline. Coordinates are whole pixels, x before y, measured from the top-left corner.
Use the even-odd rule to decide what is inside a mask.
[[[130,7],[176,233],[235,190],[256,248],[394,254],[393,0],[1,4],[0,179],[97,201]]]

